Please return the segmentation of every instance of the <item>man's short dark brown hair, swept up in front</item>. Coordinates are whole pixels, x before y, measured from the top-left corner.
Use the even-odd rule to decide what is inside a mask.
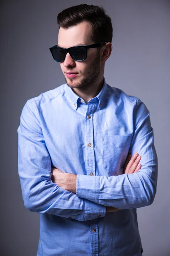
[[[57,15],[59,28],[68,29],[83,21],[88,21],[91,24],[91,39],[94,43],[111,43],[113,37],[112,21],[102,6],[80,4],[71,6]]]

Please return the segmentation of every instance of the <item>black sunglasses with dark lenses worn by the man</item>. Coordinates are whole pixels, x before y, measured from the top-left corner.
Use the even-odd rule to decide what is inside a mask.
[[[58,47],[57,45],[54,45],[53,47],[50,48],[50,52],[54,58],[54,61],[58,61],[58,62],[64,61],[67,52],[69,52],[71,58],[73,58],[75,61],[84,61],[88,56],[87,49],[102,47],[106,43],[107,42],[101,42],[101,43],[89,44],[89,45],[77,45],[70,48],[62,48],[62,47]]]

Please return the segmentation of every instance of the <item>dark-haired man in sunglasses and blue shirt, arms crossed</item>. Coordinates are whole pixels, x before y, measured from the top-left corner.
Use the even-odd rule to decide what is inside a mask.
[[[57,21],[50,51],[66,83],[29,99],[17,130],[24,204],[40,213],[37,256],[142,255],[136,208],[153,203],[157,184],[149,111],[106,84],[102,7],[72,6]]]

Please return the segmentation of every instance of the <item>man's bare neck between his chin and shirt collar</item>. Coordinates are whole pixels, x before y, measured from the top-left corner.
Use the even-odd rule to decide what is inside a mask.
[[[104,77],[97,80],[94,84],[90,84],[87,87],[79,87],[79,88],[72,88],[74,93],[76,93],[79,97],[84,99],[85,103],[87,104],[90,99],[96,97],[100,90],[102,90],[104,82]]]

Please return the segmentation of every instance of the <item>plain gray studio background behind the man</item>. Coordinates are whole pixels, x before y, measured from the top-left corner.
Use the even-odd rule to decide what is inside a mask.
[[[106,82],[139,97],[150,111],[159,158],[158,186],[151,206],[137,210],[144,256],[170,255],[169,86],[170,2],[166,0],[0,2],[1,255],[34,256],[37,213],[24,207],[17,170],[17,128],[27,99],[65,83],[49,47],[57,44],[57,14],[88,3],[112,18],[113,51]]]

